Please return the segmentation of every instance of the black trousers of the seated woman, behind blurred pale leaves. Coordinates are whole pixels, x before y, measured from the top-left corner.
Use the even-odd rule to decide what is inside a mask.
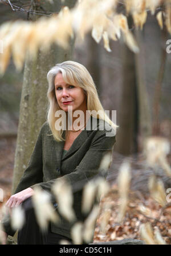
[[[18,245],[59,245],[60,240],[64,239],[72,242],[70,238],[56,233],[52,233],[50,225],[46,233],[42,233],[36,221],[32,199],[27,198],[22,203],[25,210],[25,225],[18,231]]]

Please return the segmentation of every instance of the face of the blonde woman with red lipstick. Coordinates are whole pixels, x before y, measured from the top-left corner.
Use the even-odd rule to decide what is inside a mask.
[[[83,89],[64,82],[62,73],[56,75],[54,85],[56,99],[62,110],[68,111],[68,106],[72,106],[72,111],[87,109],[86,95]]]

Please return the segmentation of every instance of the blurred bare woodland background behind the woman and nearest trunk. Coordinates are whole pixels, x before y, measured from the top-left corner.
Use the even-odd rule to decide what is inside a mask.
[[[0,25],[18,18],[26,20],[27,13],[13,11],[8,5],[0,5]],[[112,52],[108,53],[102,43],[97,45],[88,34],[81,45],[75,42],[72,59],[85,65],[91,73],[104,109],[117,111],[117,125],[120,128],[108,180],[115,184],[119,166],[128,157],[132,162],[132,189],[138,190],[140,197],[145,197],[152,171],[145,169],[144,140],[149,135],[162,135],[171,141],[171,54],[166,53],[166,40],[170,35],[160,29],[156,18],[150,12],[143,31],[136,31],[132,21],[130,24],[139,43],[139,54],[133,53],[121,41],[110,41]],[[54,63],[60,62],[58,54],[59,50],[53,55]],[[44,82],[41,81],[39,90],[47,87],[46,75],[51,66],[48,58],[46,59],[47,62],[39,59],[39,63],[32,63],[32,69],[43,70],[41,75]],[[5,190],[5,198],[11,193],[13,182],[23,71],[24,68],[21,73],[17,72],[11,61],[5,75],[0,79],[0,187]],[[39,78],[34,78],[34,74],[28,72],[26,77],[28,81],[24,81],[25,83],[29,83],[31,77],[35,85],[38,85]],[[156,94],[160,106],[157,128],[154,109]],[[168,159],[170,161],[170,155]],[[162,172],[158,175],[165,182],[166,188],[171,187],[170,178]]]

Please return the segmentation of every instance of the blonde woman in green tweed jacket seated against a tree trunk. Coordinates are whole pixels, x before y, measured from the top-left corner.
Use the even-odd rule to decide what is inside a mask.
[[[73,61],[59,63],[48,72],[47,80],[47,122],[40,129],[30,162],[14,195],[6,203],[9,209],[22,203],[26,212],[26,223],[19,230],[18,244],[71,241],[72,223],[62,216],[60,223],[50,223],[48,233],[41,234],[31,203],[34,187],[39,185],[52,195],[51,188],[56,180],[64,179],[70,183],[77,221],[84,221],[87,216],[81,210],[82,188],[100,174],[100,161],[105,154],[112,154],[115,143],[116,125],[105,114],[86,67]],[[97,117],[87,115],[90,111],[99,111]],[[81,113],[80,126],[76,120],[78,113]],[[107,135],[109,130],[110,135]],[[58,211],[58,206],[56,209]],[[14,235],[8,220],[3,221],[3,226],[7,234]]]

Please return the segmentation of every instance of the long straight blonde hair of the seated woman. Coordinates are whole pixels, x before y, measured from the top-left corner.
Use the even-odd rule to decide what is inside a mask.
[[[50,69],[47,73],[47,81],[48,81],[48,91],[47,98],[49,101],[48,113],[47,113],[47,122],[52,131],[52,135],[54,136],[56,141],[65,141],[62,137],[63,130],[55,129],[55,112],[57,110],[61,110],[58,102],[56,100],[55,95],[55,86],[54,81],[56,74],[62,73],[63,79],[66,83],[70,85],[79,86],[83,89],[84,93],[87,97],[87,110],[95,110],[99,111],[99,119],[105,119],[106,122],[109,123],[116,131],[118,127],[108,118],[108,115],[105,113],[103,106],[100,103],[99,96],[97,94],[95,83],[91,75],[89,74],[86,67],[82,64],[74,61],[64,61],[62,63],[56,64],[54,67]],[[93,114],[91,114],[93,116]],[[98,118],[98,117],[97,117]]]

